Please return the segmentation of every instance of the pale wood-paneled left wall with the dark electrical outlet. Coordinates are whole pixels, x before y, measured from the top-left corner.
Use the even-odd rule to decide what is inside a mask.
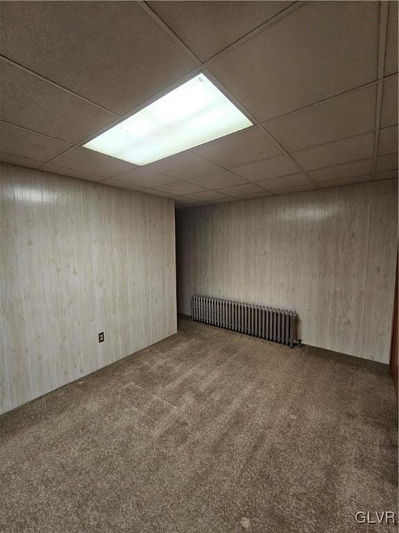
[[[7,164],[0,176],[5,412],[176,332],[175,214],[148,194]]]

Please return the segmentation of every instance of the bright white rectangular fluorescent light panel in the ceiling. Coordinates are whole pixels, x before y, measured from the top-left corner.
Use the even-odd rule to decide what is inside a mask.
[[[143,165],[249,126],[236,105],[198,74],[83,146]]]

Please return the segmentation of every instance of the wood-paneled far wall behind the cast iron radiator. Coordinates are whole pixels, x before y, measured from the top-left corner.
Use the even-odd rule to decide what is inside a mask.
[[[389,362],[397,180],[177,214],[177,308],[204,294],[299,313],[305,344]]]

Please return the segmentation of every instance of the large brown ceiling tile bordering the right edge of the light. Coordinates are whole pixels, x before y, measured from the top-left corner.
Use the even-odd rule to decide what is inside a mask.
[[[308,2],[209,68],[259,121],[373,81],[378,2]]]

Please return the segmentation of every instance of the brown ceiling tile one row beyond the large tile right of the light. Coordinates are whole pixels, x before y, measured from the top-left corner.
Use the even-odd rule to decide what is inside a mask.
[[[287,150],[297,151],[375,128],[375,85],[337,96],[265,123]]]

